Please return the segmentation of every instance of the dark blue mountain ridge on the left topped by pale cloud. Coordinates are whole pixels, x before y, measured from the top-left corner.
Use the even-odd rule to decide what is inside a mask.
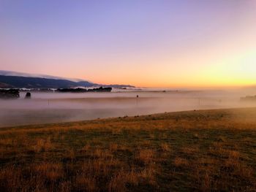
[[[34,75],[25,73],[16,73],[9,71],[0,71],[0,88],[75,88],[75,87],[93,87],[93,86],[110,86],[113,88],[132,88],[132,85],[100,85],[87,80],[69,80],[63,77],[54,77],[49,75]]]

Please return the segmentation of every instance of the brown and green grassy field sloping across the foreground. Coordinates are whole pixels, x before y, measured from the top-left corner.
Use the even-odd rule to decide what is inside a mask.
[[[256,108],[0,129],[1,191],[256,191]]]

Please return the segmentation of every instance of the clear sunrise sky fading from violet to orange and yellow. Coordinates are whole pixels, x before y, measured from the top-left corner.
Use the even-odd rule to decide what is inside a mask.
[[[255,0],[0,0],[0,70],[104,84],[256,85]]]

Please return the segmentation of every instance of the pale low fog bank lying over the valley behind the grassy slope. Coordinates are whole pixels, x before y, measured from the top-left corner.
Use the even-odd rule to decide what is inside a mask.
[[[75,120],[147,115],[157,112],[256,107],[240,101],[252,95],[228,91],[138,91],[116,93],[40,93],[31,99],[0,100],[0,126],[58,123]],[[138,97],[137,97],[138,96]]]

